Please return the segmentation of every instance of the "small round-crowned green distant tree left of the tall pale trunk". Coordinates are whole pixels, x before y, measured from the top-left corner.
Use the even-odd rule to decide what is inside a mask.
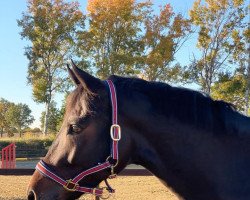
[[[27,128],[33,121],[34,117],[31,115],[31,110],[26,104],[12,104],[6,112],[6,120],[13,127],[16,128],[19,136],[22,136],[22,130]]]

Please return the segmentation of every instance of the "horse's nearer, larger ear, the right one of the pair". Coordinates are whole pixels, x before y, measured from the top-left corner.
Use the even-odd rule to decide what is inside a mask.
[[[94,76],[78,68],[73,60],[71,60],[71,62],[73,67],[72,72],[75,77],[73,79],[77,85],[81,84],[84,89],[88,90],[91,93],[95,93],[97,89],[103,86],[102,81],[100,79],[95,78]],[[75,81],[75,79],[77,81]]]

